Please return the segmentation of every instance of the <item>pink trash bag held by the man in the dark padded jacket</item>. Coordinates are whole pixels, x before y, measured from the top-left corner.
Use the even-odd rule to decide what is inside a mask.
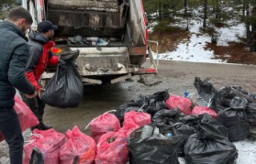
[[[38,125],[38,119],[30,110],[30,107],[26,106],[22,100],[18,98],[18,96],[14,96],[14,110],[18,115],[18,121],[21,125],[22,131],[26,131],[27,128],[34,127]],[[4,140],[2,133],[0,132],[0,142]]]

